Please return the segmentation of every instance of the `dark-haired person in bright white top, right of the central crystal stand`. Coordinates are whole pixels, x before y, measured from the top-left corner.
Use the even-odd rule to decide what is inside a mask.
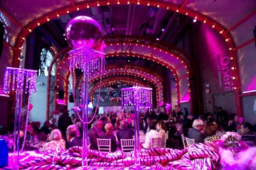
[[[145,148],[145,149],[150,148],[150,143],[151,143],[152,138],[159,138],[160,137],[159,132],[156,131],[156,122],[154,122],[154,121],[150,122],[149,129],[150,129],[150,131],[147,132],[147,134],[145,136],[145,143],[142,144],[142,147]]]

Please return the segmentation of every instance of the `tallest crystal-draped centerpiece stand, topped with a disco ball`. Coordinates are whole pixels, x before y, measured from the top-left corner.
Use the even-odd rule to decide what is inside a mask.
[[[68,22],[65,36],[68,45],[72,48],[70,52],[70,73],[74,73],[75,69],[83,71],[83,91],[81,93],[83,105],[83,115],[81,121],[83,122],[83,157],[82,166],[86,169],[88,166],[88,124],[93,121],[97,109],[93,114],[92,119],[88,122],[88,89],[90,74],[98,72],[101,78],[104,73],[105,58],[103,50],[106,44],[102,40],[102,29],[100,25],[93,20],[93,18],[86,16],[75,17]],[[76,94],[76,82],[72,78],[73,94]],[[99,87],[100,89],[100,87]],[[100,90],[99,90],[100,91]],[[79,97],[74,97],[75,99]],[[75,105],[77,103],[75,102]],[[99,96],[97,100],[97,108],[99,108]],[[78,105],[80,106],[80,104]]]

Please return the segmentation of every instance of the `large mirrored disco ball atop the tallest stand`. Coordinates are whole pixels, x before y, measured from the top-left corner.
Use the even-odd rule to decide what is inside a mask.
[[[65,35],[68,45],[73,50],[82,47],[102,50],[102,29],[91,17],[79,16],[70,20],[65,29]]]

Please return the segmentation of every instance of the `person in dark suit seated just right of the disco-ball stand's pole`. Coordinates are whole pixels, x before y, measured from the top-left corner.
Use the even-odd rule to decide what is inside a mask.
[[[97,138],[100,136],[100,132],[102,132],[103,122],[102,120],[96,120],[93,124],[93,128],[88,132],[88,136],[90,139],[90,149],[98,150]]]

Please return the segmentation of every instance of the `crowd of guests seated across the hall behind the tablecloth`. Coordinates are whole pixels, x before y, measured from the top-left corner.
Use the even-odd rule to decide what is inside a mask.
[[[89,116],[90,120],[91,116]],[[104,113],[96,115],[88,124],[88,145],[92,150],[98,150],[97,138],[111,139],[111,152],[120,148],[121,139],[134,138],[134,114],[129,113]],[[40,122],[39,122],[40,123]],[[238,132],[239,134],[255,134],[253,125],[248,122],[238,121],[237,115],[228,115],[221,107],[216,112],[207,110],[201,115],[192,115],[187,108],[173,110],[168,114],[166,108],[161,106],[159,113],[146,111],[140,113],[140,131],[145,135],[145,142],[141,147],[150,148],[152,138],[161,137],[161,147],[181,148],[181,134],[195,139],[195,143],[213,142],[220,139],[225,131]],[[67,110],[61,111],[58,125],[54,126],[49,120],[40,128],[36,122],[28,125],[26,144],[45,141],[43,150],[62,152],[72,146],[82,146],[82,122],[76,114],[68,115]],[[166,136],[168,136],[166,138]],[[179,145],[173,145],[173,141]]]

